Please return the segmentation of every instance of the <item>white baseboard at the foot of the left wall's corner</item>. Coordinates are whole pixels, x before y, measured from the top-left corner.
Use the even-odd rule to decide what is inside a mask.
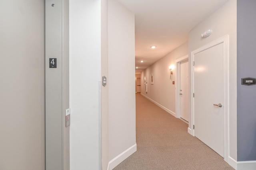
[[[137,151],[137,144],[133,145],[132,147],[126,149],[124,152],[116,156],[114,159],[108,162],[108,170],[114,169],[118,164],[123,162],[126,158],[131,156],[134,152]]]

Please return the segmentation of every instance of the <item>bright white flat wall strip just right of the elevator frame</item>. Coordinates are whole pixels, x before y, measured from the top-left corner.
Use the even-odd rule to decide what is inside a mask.
[[[101,1],[70,1],[70,170],[101,164]]]

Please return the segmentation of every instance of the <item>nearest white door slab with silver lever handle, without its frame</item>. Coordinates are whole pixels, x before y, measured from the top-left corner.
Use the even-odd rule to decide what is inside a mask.
[[[194,55],[194,134],[224,157],[224,45]]]

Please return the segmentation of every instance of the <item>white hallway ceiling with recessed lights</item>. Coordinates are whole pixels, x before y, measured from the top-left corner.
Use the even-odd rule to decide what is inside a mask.
[[[227,1],[118,0],[135,14],[136,72],[188,41],[188,32]]]

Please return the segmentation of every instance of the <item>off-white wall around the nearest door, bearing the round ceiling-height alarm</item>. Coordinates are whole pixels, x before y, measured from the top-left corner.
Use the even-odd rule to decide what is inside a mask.
[[[212,34],[201,38],[201,33],[212,29]],[[214,12],[198,24],[189,33],[188,49],[189,55],[192,51],[206,45],[224,35],[229,35],[229,99],[230,99],[230,156],[237,160],[236,140],[236,0],[230,0],[220,9]],[[190,59],[190,56],[189,56]],[[190,65],[190,60],[189,60]],[[190,69],[190,68],[189,68]],[[191,80],[190,80],[191,82]],[[191,125],[189,125],[191,128]]]

